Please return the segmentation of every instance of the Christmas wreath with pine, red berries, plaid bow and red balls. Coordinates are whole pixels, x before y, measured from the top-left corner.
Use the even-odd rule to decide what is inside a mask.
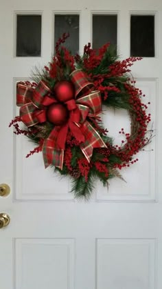
[[[69,175],[75,197],[87,199],[94,179],[108,186],[109,179],[122,179],[122,168],[138,161],[135,155],[152,137],[146,137],[150,114],[141,101],[145,95],[128,74],[141,57],[119,61],[110,43],[99,50],[89,43],[82,57],[73,56],[62,46],[67,37],[63,34],[58,39],[55,56],[43,70],[36,70],[34,82],[17,83],[20,116],[10,126],[37,144],[27,157],[43,152],[45,168],[52,166],[61,175]],[[121,146],[113,144],[102,125],[103,105],[125,109],[130,115],[130,134],[124,128],[119,131],[125,139]]]

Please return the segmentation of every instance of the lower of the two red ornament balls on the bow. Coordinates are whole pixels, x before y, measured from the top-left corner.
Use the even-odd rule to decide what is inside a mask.
[[[54,103],[49,106],[47,110],[47,119],[55,126],[62,126],[62,124],[67,122],[69,117],[69,111],[61,103]]]

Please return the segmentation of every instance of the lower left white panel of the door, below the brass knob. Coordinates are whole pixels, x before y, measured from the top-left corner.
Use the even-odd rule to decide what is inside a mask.
[[[13,244],[16,288],[74,288],[73,239],[14,239]]]

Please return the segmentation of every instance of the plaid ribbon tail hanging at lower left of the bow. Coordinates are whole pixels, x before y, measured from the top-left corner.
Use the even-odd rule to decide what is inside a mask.
[[[56,139],[60,128],[54,128],[49,134],[49,137],[45,139],[43,143],[43,159],[45,168],[48,166],[56,166],[62,170],[64,160],[64,150],[56,146]]]

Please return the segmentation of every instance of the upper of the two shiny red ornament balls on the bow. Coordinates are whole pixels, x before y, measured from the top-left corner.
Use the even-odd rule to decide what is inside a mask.
[[[66,102],[75,97],[75,88],[72,82],[69,81],[59,81],[54,86],[54,93],[56,99],[60,102]]]

